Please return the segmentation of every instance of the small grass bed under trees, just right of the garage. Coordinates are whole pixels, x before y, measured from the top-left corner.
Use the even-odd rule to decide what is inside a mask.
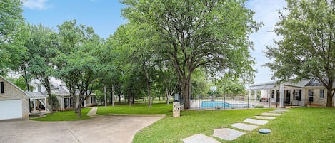
[[[74,121],[74,120],[86,120],[91,117],[86,116],[86,114],[91,110],[91,108],[82,108],[81,109],[81,118],[78,117],[78,114],[71,111],[62,111],[54,112],[53,115],[46,114],[46,117],[32,119],[35,121]]]

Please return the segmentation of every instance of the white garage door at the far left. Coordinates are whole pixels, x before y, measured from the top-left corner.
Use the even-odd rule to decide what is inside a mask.
[[[0,100],[0,120],[22,117],[22,100]]]

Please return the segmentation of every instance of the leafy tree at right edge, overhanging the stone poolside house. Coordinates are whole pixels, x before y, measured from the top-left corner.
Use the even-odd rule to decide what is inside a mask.
[[[328,90],[326,107],[333,105],[335,89],[335,1],[287,0],[274,31],[281,36],[266,48],[266,63],[274,78],[316,79]]]

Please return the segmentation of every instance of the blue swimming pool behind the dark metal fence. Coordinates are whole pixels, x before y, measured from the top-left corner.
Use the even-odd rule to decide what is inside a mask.
[[[248,104],[229,104],[223,101],[202,101],[200,107],[249,107]]]

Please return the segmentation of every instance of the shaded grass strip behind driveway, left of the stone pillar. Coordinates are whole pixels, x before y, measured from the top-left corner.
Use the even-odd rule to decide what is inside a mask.
[[[109,114],[166,114],[172,112],[172,104],[166,105],[165,103],[161,104],[152,104],[151,107],[148,107],[148,104],[134,104],[134,105],[114,105],[104,107],[98,107],[96,112],[99,115],[109,115]]]

